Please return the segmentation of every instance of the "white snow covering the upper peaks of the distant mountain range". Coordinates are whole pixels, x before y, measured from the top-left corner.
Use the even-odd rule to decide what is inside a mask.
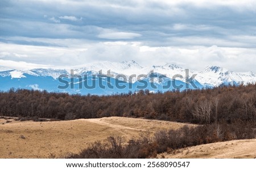
[[[1,68],[1,67],[0,67]],[[117,74],[124,74],[126,76],[131,75],[148,75],[151,74],[152,71],[155,74],[162,74],[168,78],[176,79],[176,75],[181,75],[182,77],[177,78],[177,80],[185,82],[185,69],[175,65],[175,64],[164,64],[164,65],[154,65],[148,67],[142,67],[134,60],[131,61],[122,61],[122,62],[110,62],[110,61],[101,61],[92,64],[80,65],[73,67],[73,73],[75,74],[88,74],[91,72],[93,74],[97,74],[102,71],[102,74],[106,74],[108,71],[111,71],[114,76]],[[61,74],[69,74],[71,70],[69,69],[52,69],[52,68],[35,68],[31,70],[9,70],[9,71],[0,71],[0,78],[10,76],[11,79],[14,78],[31,78],[31,76],[35,77],[53,77],[55,80]],[[253,72],[243,72],[237,73],[233,71],[229,71],[228,69],[217,67],[217,66],[209,66],[204,69],[204,71],[193,71],[189,70],[189,76],[196,74],[195,80],[198,81],[201,85],[205,87],[213,87],[220,85],[229,85],[229,84],[244,84],[247,85],[249,83],[256,82],[256,76]],[[28,76],[31,75],[31,76]],[[26,78],[25,78],[26,79]],[[31,82],[35,84],[34,82]]]

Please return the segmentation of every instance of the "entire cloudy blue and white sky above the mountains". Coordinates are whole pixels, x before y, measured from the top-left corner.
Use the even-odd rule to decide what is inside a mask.
[[[143,67],[256,73],[255,6],[253,0],[0,0],[0,67],[135,60]]]

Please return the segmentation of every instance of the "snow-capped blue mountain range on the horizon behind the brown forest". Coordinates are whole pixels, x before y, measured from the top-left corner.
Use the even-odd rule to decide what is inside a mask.
[[[14,87],[72,94],[113,94],[140,89],[165,92],[256,82],[256,75],[253,72],[236,73],[217,66],[209,66],[203,71],[193,71],[175,64],[142,67],[135,61],[104,61],[65,69],[15,70],[1,66],[0,68],[0,90],[4,91]]]

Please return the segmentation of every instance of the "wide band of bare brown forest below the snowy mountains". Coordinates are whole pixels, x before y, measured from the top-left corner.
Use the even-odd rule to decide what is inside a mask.
[[[19,118],[133,117],[185,123],[232,123],[256,121],[256,85],[213,89],[94,96],[10,89],[0,92],[0,116]]]

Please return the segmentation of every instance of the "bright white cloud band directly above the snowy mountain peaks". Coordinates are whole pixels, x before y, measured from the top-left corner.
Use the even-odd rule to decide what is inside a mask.
[[[256,73],[255,48],[216,45],[149,47],[139,42],[72,43],[75,43],[72,48],[0,44],[0,65],[13,69],[69,68],[94,61],[135,60],[142,66],[173,63],[200,71],[207,65],[218,65],[237,72]],[[23,56],[24,53],[27,56]]]

